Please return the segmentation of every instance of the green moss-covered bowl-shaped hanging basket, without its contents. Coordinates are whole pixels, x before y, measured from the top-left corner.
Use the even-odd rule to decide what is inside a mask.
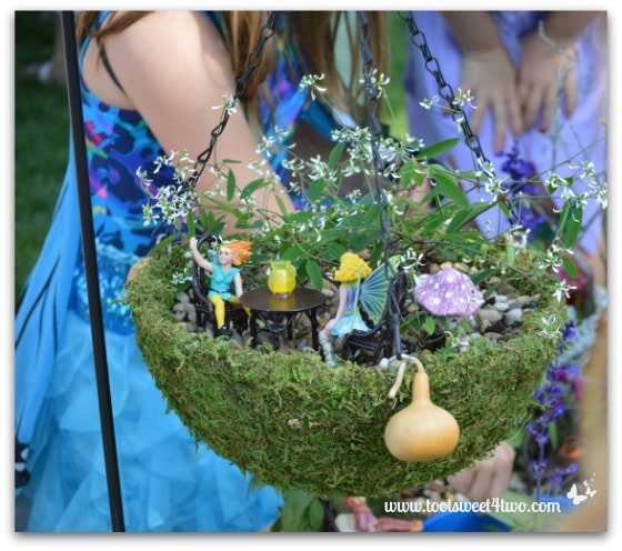
[[[424,352],[432,400],[460,424],[458,448],[422,463],[395,460],[384,445],[389,418],[410,402],[407,370],[395,409],[394,373],[348,362],[330,369],[319,353],[258,352],[191,333],[172,314],[171,274],[187,259],[156,253],[127,285],[137,340],[158,388],[191,433],[260,482],[330,495],[388,497],[482,459],[524,423],[533,390],[556,343],[539,335],[542,318],[565,319],[552,278],[509,281],[541,293],[520,334],[474,339],[463,353]]]

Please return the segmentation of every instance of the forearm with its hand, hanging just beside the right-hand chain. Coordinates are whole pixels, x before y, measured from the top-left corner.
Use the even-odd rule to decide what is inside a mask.
[[[462,91],[471,90],[475,109],[469,120],[476,133],[486,111],[494,119],[494,149],[503,149],[508,131],[522,131],[516,73],[496,24],[486,11],[445,11],[443,18],[462,49]]]

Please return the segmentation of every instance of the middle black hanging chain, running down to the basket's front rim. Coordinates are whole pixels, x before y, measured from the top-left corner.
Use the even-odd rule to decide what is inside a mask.
[[[389,223],[384,218],[384,213],[387,211],[387,208],[389,207],[389,199],[382,186],[382,167],[384,163],[380,156],[380,148],[379,148],[381,126],[378,121],[378,117],[375,116],[375,111],[378,109],[379,93],[374,84],[373,56],[371,52],[371,48],[369,46],[369,33],[370,33],[369,19],[364,11],[357,12],[357,16],[359,20],[359,43],[361,49],[363,82],[365,89],[368,128],[371,138],[370,142],[371,142],[371,154],[372,154],[373,174],[374,174],[375,203],[378,204],[379,208],[380,239],[384,248],[385,276],[387,279],[392,281],[394,273],[389,273],[390,259],[392,257],[391,254],[392,238],[391,238],[391,230]],[[391,285],[391,292],[389,293],[389,312],[391,314],[391,325],[393,327],[395,357],[399,360],[402,357],[402,340],[401,340],[401,331],[400,331],[400,305],[398,303],[398,297],[395,297],[395,294],[392,291],[393,289]]]

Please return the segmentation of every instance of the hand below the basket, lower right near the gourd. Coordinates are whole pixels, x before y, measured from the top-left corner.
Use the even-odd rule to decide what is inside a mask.
[[[491,458],[476,461],[471,469],[448,477],[448,481],[471,501],[501,498],[510,484],[514,455],[514,449],[508,442],[501,442]]]

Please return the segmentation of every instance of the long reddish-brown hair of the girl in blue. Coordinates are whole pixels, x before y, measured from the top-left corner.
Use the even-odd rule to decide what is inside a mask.
[[[97,11],[81,11],[77,20],[77,36],[81,43],[87,36],[100,38],[100,48],[106,37],[127,29],[149,11],[127,11],[117,14],[107,21],[107,24],[97,31],[91,26],[98,17]],[[324,74],[322,87],[328,89],[328,101],[344,111],[351,112],[354,119],[360,119],[361,99],[364,92],[360,82],[360,56],[355,28],[352,26],[353,12],[339,11],[293,11],[287,12],[289,37],[292,47],[303,53],[309,72]],[[267,21],[264,11],[222,11],[224,39],[231,51],[231,66],[235,78],[244,72],[252,53],[262,24]],[[388,68],[388,31],[387,14],[381,11],[368,13],[370,26],[370,48],[374,64],[379,71],[387,72]],[[349,74],[340,74],[337,66],[335,47],[340,24],[344,24],[347,37],[347,54],[350,56]],[[342,52],[339,52],[340,54]],[[253,103],[257,101],[258,91],[265,77],[273,69],[277,61],[277,41],[265,42],[262,62],[253,71],[248,81],[242,101],[247,110],[257,113]],[[269,94],[264,94],[269,98]],[[359,120],[361,122],[361,120]]]

